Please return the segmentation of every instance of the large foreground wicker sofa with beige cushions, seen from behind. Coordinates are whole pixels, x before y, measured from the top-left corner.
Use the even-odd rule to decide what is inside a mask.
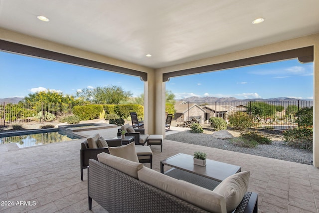
[[[258,194],[246,192],[249,172],[233,175],[244,177],[238,185],[245,188],[234,193],[230,177],[210,191],[107,153],[99,154],[98,160],[89,160],[90,210],[93,199],[110,213],[257,213]]]

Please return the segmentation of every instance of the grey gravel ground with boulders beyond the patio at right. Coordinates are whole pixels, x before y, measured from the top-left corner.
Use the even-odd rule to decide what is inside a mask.
[[[238,133],[230,132],[233,136],[238,137]],[[231,140],[217,139],[210,134],[179,132],[165,137],[167,140],[178,141],[188,144],[213,147],[217,149],[229,150],[234,152],[246,153],[251,155],[275,158],[285,161],[292,161],[301,164],[312,165],[313,152],[301,149],[295,149],[286,146],[284,141],[278,137],[270,138],[272,145],[258,145],[256,148],[243,148],[235,146]]]

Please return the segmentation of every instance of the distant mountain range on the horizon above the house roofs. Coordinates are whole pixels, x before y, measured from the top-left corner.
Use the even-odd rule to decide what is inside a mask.
[[[229,98],[217,98],[217,97],[188,97],[179,99],[178,101],[186,101],[186,102],[241,102],[241,101],[298,101],[301,99],[297,98],[287,98],[287,97],[279,97],[279,98],[248,98],[248,99],[238,99],[234,97]]]

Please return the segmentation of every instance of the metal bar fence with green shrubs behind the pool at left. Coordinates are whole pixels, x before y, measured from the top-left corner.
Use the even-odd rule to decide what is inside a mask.
[[[47,123],[71,115],[75,104],[0,102],[0,127],[14,122]]]

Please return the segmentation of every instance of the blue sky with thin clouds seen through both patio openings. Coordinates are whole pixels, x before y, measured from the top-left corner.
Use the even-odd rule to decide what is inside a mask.
[[[45,89],[75,95],[83,88],[121,86],[133,96],[144,92],[139,77],[0,51],[0,98],[24,97]],[[190,96],[313,99],[313,63],[273,62],[171,78],[166,90],[176,99]]]

